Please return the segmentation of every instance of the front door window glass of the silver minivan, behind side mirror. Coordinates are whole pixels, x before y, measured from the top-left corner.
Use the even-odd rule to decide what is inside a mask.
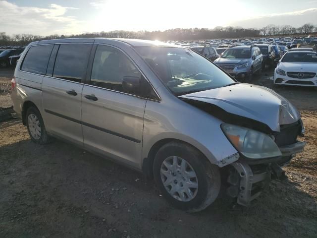
[[[122,88],[124,76],[141,78],[141,73],[121,51],[99,45],[95,54],[90,84],[124,92]]]

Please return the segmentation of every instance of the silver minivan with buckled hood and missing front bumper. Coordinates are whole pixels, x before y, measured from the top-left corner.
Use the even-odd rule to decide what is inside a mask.
[[[142,171],[186,211],[208,207],[220,186],[248,205],[305,146],[285,98],[158,41],[33,42],[12,88],[34,142],[60,138]]]

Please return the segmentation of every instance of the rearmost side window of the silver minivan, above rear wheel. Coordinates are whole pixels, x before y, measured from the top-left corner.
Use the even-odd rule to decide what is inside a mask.
[[[45,75],[53,46],[31,47],[23,60],[21,70]]]

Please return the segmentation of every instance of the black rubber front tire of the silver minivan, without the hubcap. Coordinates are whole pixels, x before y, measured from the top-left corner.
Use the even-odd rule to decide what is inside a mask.
[[[161,166],[164,160],[171,156],[180,157],[194,170],[197,176],[198,190],[196,196],[190,201],[179,201],[166,190],[161,179]],[[216,165],[196,148],[181,142],[169,142],[163,145],[157,152],[153,164],[154,180],[164,198],[176,208],[198,212],[207,208],[217,198],[220,190],[220,172]]]

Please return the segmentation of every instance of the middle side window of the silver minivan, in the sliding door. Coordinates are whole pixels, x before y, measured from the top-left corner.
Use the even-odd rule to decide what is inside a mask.
[[[81,82],[85,77],[90,44],[61,44],[57,52],[53,77]]]

